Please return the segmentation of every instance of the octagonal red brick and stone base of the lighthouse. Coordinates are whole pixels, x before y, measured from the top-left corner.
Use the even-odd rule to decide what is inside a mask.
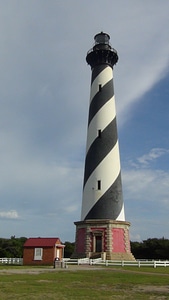
[[[129,222],[95,219],[74,224],[76,241],[72,258],[135,260],[130,250]]]

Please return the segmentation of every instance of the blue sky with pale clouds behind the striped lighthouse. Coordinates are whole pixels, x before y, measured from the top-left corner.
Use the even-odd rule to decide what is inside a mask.
[[[0,237],[75,240],[91,70],[104,31],[114,67],[130,239],[169,239],[169,2],[0,0]]]

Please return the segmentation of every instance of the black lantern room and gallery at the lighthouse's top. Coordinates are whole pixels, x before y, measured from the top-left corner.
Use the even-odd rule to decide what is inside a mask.
[[[109,44],[110,36],[100,32],[94,37],[95,43],[86,56],[87,63],[93,69],[97,65],[107,64],[113,68],[118,61],[117,51]]]

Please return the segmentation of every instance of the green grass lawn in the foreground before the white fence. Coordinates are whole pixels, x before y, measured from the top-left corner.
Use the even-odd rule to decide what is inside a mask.
[[[0,299],[169,299],[169,268],[1,266]]]

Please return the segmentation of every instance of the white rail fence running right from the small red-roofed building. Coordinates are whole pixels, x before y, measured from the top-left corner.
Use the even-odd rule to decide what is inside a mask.
[[[121,261],[121,260],[102,260],[101,258],[89,259],[69,259],[64,258],[65,265],[102,265],[102,266],[132,266],[132,267],[169,267],[168,260],[135,260],[135,261]]]

